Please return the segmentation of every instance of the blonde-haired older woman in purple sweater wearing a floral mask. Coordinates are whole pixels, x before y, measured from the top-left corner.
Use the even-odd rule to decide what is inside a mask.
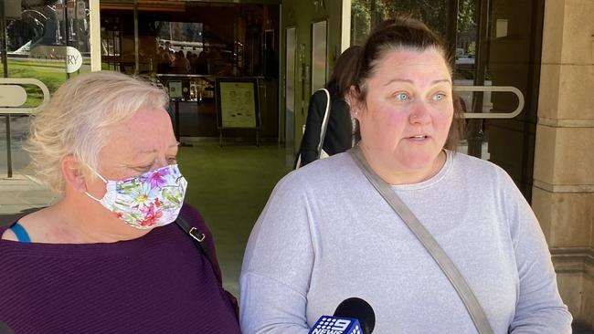
[[[35,115],[32,161],[63,196],[0,230],[0,320],[16,333],[239,333],[211,235],[184,205],[166,102],[94,72]]]

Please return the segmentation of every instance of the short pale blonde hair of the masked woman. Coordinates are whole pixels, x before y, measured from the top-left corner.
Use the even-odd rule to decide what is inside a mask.
[[[99,153],[110,128],[143,108],[164,108],[164,89],[119,72],[98,71],[66,81],[32,116],[26,149],[40,179],[57,192],[65,188],[62,159],[72,154],[99,170]]]

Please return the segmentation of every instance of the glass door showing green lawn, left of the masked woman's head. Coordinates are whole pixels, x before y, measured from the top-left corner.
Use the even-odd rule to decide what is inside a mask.
[[[15,1],[0,6],[0,214],[48,204],[27,167],[29,116],[70,76],[90,71],[89,0]],[[13,191],[13,190],[17,191]],[[28,191],[40,193],[27,197]],[[4,193],[9,192],[9,193]]]

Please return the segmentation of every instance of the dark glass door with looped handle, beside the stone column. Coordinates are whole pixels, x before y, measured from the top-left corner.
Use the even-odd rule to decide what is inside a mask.
[[[544,1],[460,0],[456,84],[467,111],[468,154],[503,167],[529,200]]]

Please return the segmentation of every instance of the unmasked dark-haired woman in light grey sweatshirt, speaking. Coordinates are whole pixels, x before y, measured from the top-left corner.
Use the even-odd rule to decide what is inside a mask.
[[[501,168],[454,151],[461,118],[449,64],[417,20],[371,33],[348,96],[361,141],[277,184],[244,257],[244,333],[308,333],[350,297],[374,308],[374,333],[571,332],[530,206]],[[366,172],[440,245],[484,321]]]

